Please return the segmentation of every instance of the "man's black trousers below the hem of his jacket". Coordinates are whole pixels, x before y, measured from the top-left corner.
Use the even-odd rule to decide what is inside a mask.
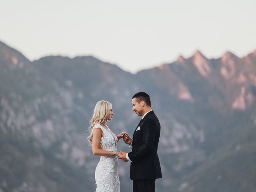
[[[156,192],[155,179],[133,180],[133,192]]]

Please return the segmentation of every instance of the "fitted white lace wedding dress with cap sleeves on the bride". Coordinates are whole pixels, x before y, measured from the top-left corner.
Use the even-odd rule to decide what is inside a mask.
[[[103,137],[100,139],[100,146],[103,150],[117,151],[117,137],[108,128],[105,129],[100,124],[93,128],[100,128]],[[117,156],[101,156],[95,170],[96,192],[120,192],[120,181],[118,176],[118,158]]]

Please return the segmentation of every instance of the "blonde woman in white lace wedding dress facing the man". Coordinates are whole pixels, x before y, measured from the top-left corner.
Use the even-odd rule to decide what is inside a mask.
[[[117,136],[108,128],[106,122],[112,120],[112,104],[107,101],[97,102],[89,127],[88,140],[92,147],[92,153],[100,156],[96,166],[95,180],[96,192],[120,192],[118,176],[118,156],[116,144],[123,138],[125,132]]]

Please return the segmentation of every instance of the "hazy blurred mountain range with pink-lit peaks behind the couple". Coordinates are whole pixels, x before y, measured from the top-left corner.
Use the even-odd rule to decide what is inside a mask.
[[[132,135],[131,98],[150,94],[161,124],[161,192],[256,190],[256,50],[190,58],[131,74],[92,56],[30,61],[0,42],[0,192],[96,189],[86,137],[98,100],[112,102],[108,126]],[[130,149],[122,140],[118,150]],[[132,191],[119,162],[120,191]]]

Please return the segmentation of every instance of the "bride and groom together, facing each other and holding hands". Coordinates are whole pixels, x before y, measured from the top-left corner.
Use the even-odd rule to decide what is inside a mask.
[[[95,170],[96,192],[120,192],[118,158],[131,162],[133,192],[155,192],[155,180],[162,178],[157,154],[160,123],[151,108],[150,96],[136,93],[132,97],[132,110],[142,118],[130,138],[126,132],[115,135],[106,125],[114,114],[110,102],[99,101],[94,108],[88,140],[92,153],[100,156]],[[131,152],[117,151],[120,138],[132,148]]]

